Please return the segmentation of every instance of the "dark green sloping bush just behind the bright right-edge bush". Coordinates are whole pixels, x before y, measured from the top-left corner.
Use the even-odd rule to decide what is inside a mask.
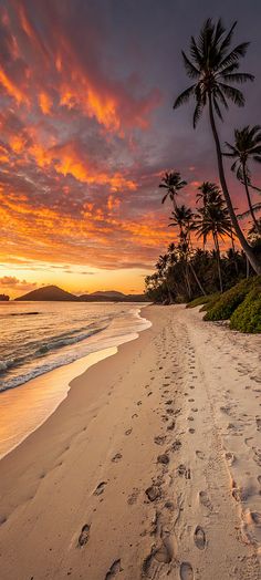
[[[203,320],[228,320],[234,310],[243,302],[247,294],[255,283],[259,283],[261,277],[248,278],[227,290],[219,300],[208,310]]]

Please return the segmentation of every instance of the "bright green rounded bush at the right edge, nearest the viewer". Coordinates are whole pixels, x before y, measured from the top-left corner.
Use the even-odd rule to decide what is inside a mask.
[[[257,284],[234,310],[230,328],[241,332],[261,332],[261,283]]]

